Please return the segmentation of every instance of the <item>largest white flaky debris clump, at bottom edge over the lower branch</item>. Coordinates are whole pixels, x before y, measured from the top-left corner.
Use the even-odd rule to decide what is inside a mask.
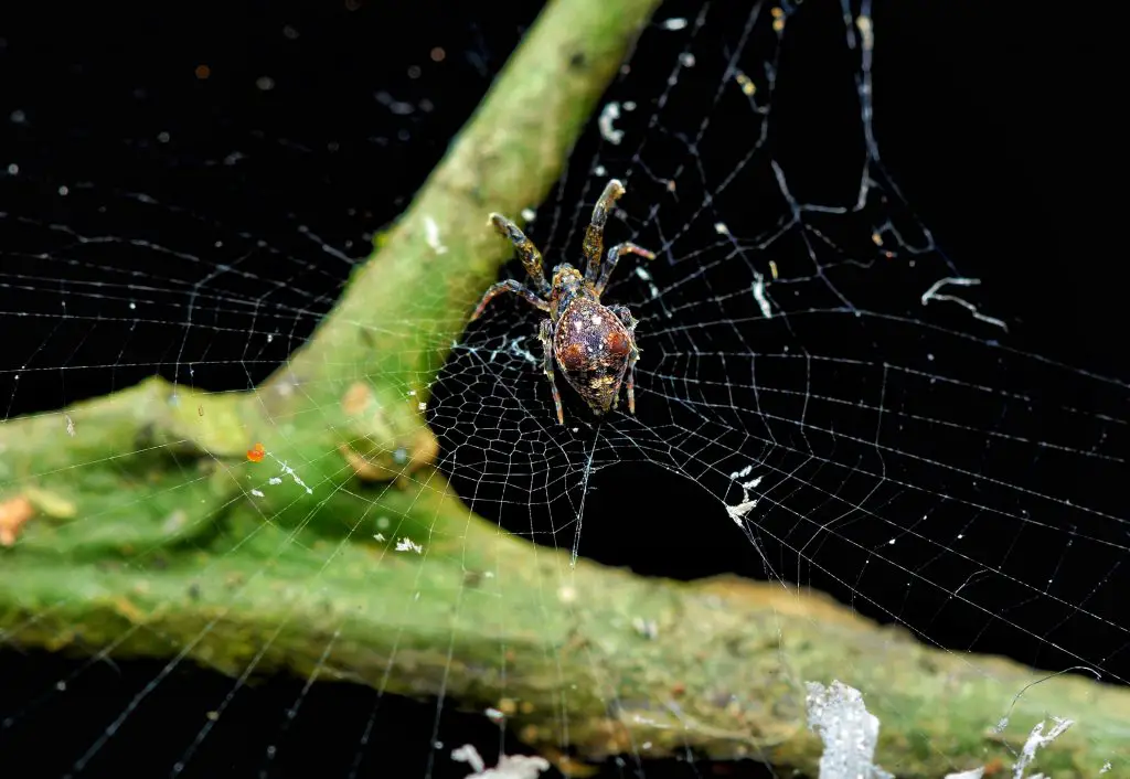
[[[894,779],[871,763],[879,739],[879,718],[868,712],[859,690],[833,681],[825,687],[806,682],[808,729],[824,742],[820,779]]]

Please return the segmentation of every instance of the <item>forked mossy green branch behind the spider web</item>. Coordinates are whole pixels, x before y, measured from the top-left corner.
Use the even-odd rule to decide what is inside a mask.
[[[473,516],[435,470],[418,404],[511,252],[486,215],[542,200],[655,5],[551,2],[334,311],[261,387],[153,379],[67,409],[73,436],[61,415],[0,425],[3,639],[444,690],[577,772],[556,752],[563,718],[581,760],[690,748],[815,773],[803,682],[833,678],[864,692],[877,761],[899,776],[1011,763],[1046,715],[1077,725],[1041,752],[1045,772],[1130,761],[1125,690],[1028,687],[1038,674],[775,585],[574,570]],[[405,537],[420,552],[397,552]]]

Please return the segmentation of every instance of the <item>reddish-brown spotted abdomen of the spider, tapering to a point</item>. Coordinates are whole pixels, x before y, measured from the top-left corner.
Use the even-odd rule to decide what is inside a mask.
[[[591,300],[574,300],[554,332],[557,365],[596,414],[605,414],[616,404],[634,348],[624,322]]]

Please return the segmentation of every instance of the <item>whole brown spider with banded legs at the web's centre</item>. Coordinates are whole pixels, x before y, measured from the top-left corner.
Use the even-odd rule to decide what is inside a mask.
[[[600,302],[600,295],[608,286],[620,254],[638,254],[649,260],[655,259],[655,256],[634,243],[619,243],[608,250],[608,257],[601,262],[605,223],[608,222],[609,209],[621,194],[624,184],[612,179],[592,209],[592,220],[584,233],[582,246],[584,277],[568,262],[562,262],[554,268],[553,286],[546,283],[541,270],[541,252],[533,242],[506,217],[490,215],[490,224],[498,233],[508,237],[518,250],[534,289],[514,279],[498,282],[483,295],[471,314],[471,321],[481,315],[487,303],[504,292],[513,292],[533,308],[549,314],[549,319],[541,320],[538,338],[545,354],[542,366],[553,389],[557,422],[560,424],[565,424],[565,414],[554,382],[555,360],[565,374],[565,380],[598,416],[616,406],[620,384],[627,378],[628,412],[635,414],[633,369],[640,358],[640,347],[635,343],[637,322],[626,305],[606,306]]]

